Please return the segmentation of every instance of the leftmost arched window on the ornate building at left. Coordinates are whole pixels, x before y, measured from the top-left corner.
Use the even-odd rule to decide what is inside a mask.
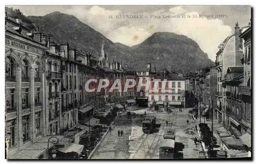
[[[6,57],[5,59],[5,73],[7,81],[15,81],[15,63],[12,57]]]

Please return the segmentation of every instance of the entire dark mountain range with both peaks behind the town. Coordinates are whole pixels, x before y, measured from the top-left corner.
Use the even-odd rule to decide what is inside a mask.
[[[99,55],[104,40],[105,52],[109,54],[111,62],[112,58],[116,58],[136,69],[145,69],[147,63],[152,63],[158,69],[195,71],[214,64],[194,40],[175,33],[154,33],[142,43],[129,47],[113,43],[72,15],[53,12],[27,18],[38,24],[42,32],[52,36],[56,43],[68,41],[78,50],[87,49]]]

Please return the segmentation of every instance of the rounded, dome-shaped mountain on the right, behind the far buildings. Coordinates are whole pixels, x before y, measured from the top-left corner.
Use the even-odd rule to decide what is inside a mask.
[[[198,44],[184,35],[158,32],[131,47],[134,61],[140,65],[153,63],[157,69],[195,71],[214,62],[208,59]]]

